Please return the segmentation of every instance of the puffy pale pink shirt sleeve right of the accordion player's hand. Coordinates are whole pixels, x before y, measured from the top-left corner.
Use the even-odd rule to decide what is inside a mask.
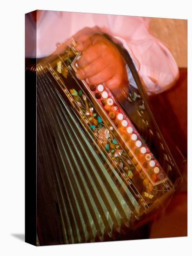
[[[146,24],[149,25],[148,20],[140,18],[135,26],[133,19],[132,27],[135,27],[132,34],[126,36],[124,25],[120,34],[114,31],[112,35],[131,55],[147,93],[158,94],[174,85],[179,77],[179,68],[168,47],[149,33]]]

